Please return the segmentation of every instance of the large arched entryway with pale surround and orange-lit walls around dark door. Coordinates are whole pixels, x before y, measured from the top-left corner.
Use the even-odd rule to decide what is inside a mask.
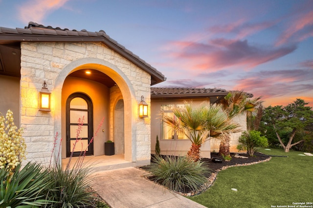
[[[54,102],[55,105],[55,132],[66,132],[66,126],[65,126],[65,110],[63,109],[64,103],[64,89],[66,86],[66,81],[70,79],[81,79],[80,77],[71,77],[69,76],[71,73],[80,71],[80,70],[86,70],[86,69],[92,69],[96,70],[98,72],[101,72],[105,74],[106,76],[109,76],[115,83],[116,86],[108,89],[99,89],[99,87],[93,87],[90,88],[90,92],[96,92],[101,93],[103,99],[107,99],[108,101],[108,112],[114,111],[114,102],[112,102],[112,97],[116,92],[119,92],[120,95],[118,95],[123,100],[124,105],[124,159],[127,161],[134,162],[136,161],[136,117],[137,117],[137,108],[138,108],[138,102],[136,100],[136,96],[134,93],[134,87],[132,86],[129,78],[115,65],[101,60],[97,58],[83,58],[77,61],[73,61],[69,63],[59,74],[58,78],[56,79],[55,88],[54,88]],[[76,92],[79,92],[79,89],[87,90],[86,88],[88,85],[85,85],[85,83],[78,83],[75,80],[72,81],[72,86],[69,86],[71,90],[77,90]],[[81,79],[81,81],[86,81],[86,79]],[[118,90],[116,90],[118,88]],[[89,95],[88,93],[86,93]],[[106,94],[106,95],[105,95]],[[68,95],[67,95],[68,96]],[[90,96],[91,97],[91,96]],[[67,98],[67,97],[66,97]],[[65,99],[66,99],[65,98]],[[92,103],[94,108],[96,105],[93,98],[91,97]],[[115,100],[116,102],[116,100]],[[58,103],[61,103],[59,105]],[[117,102],[116,102],[117,103]],[[121,104],[119,104],[121,105]],[[106,108],[104,106],[101,106],[102,108]],[[121,107],[121,106],[120,106]],[[64,107],[65,108],[65,107]],[[109,113],[109,115],[102,115],[98,113],[96,109],[94,109],[94,116],[98,116],[98,119],[94,118],[94,132],[96,131],[96,128],[98,124],[100,123],[101,119],[104,117],[104,128],[101,127],[99,131],[99,135],[97,135],[101,139],[96,139],[97,141],[107,141],[110,138],[113,137],[113,113]],[[97,120],[97,121],[95,121]],[[111,134],[112,133],[112,134]],[[105,137],[108,135],[108,137]],[[63,138],[65,136],[62,135]],[[103,139],[104,138],[104,139]],[[112,138],[113,139],[113,138]],[[114,140],[114,139],[113,139]],[[62,143],[62,155],[64,155],[66,145]],[[100,148],[103,151],[104,154],[104,142],[99,145],[94,143],[94,151],[96,151],[96,148]],[[64,158],[64,157],[63,157]]]

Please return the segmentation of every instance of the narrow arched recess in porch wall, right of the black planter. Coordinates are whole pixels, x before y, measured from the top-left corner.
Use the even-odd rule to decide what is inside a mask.
[[[114,108],[113,140],[115,154],[124,154],[124,101],[118,100]]]

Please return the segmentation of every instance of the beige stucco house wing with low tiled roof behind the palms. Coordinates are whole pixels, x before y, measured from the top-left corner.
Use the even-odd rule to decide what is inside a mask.
[[[191,147],[189,139],[177,135],[167,125],[163,125],[159,111],[171,113],[174,105],[183,107],[184,101],[192,101],[195,104],[206,102],[213,104],[219,98],[227,95],[229,91],[216,88],[164,88],[151,87],[151,150],[155,153],[156,136],[159,140],[161,154],[186,155]],[[252,97],[252,94],[247,94]],[[246,130],[246,116],[236,116],[233,119],[243,131]],[[233,133],[230,140],[230,152],[238,152],[237,145],[241,132]],[[201,146],[201,157],[211,158],[211,152],[219,152],[220,141],[208,139]]]

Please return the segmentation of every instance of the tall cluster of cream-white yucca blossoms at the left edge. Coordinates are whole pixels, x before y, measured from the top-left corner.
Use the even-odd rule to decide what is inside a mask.
[[[0,169],[13,171],[25,159],[26,144],[22,128],[14,125],[13,112],[0,113]]]

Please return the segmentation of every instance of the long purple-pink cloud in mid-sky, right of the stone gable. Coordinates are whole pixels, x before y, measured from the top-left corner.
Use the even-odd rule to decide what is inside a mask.
[[[208,43],[177,41],[170,44],[172,58],[183,60],[183,68],[218,71],[225,67],[252,68],[283,57],[296,49],[295,45],[265,48],[248,44],[247,40],[217,38]],[[174,49],[174,50],[173,50]]]

